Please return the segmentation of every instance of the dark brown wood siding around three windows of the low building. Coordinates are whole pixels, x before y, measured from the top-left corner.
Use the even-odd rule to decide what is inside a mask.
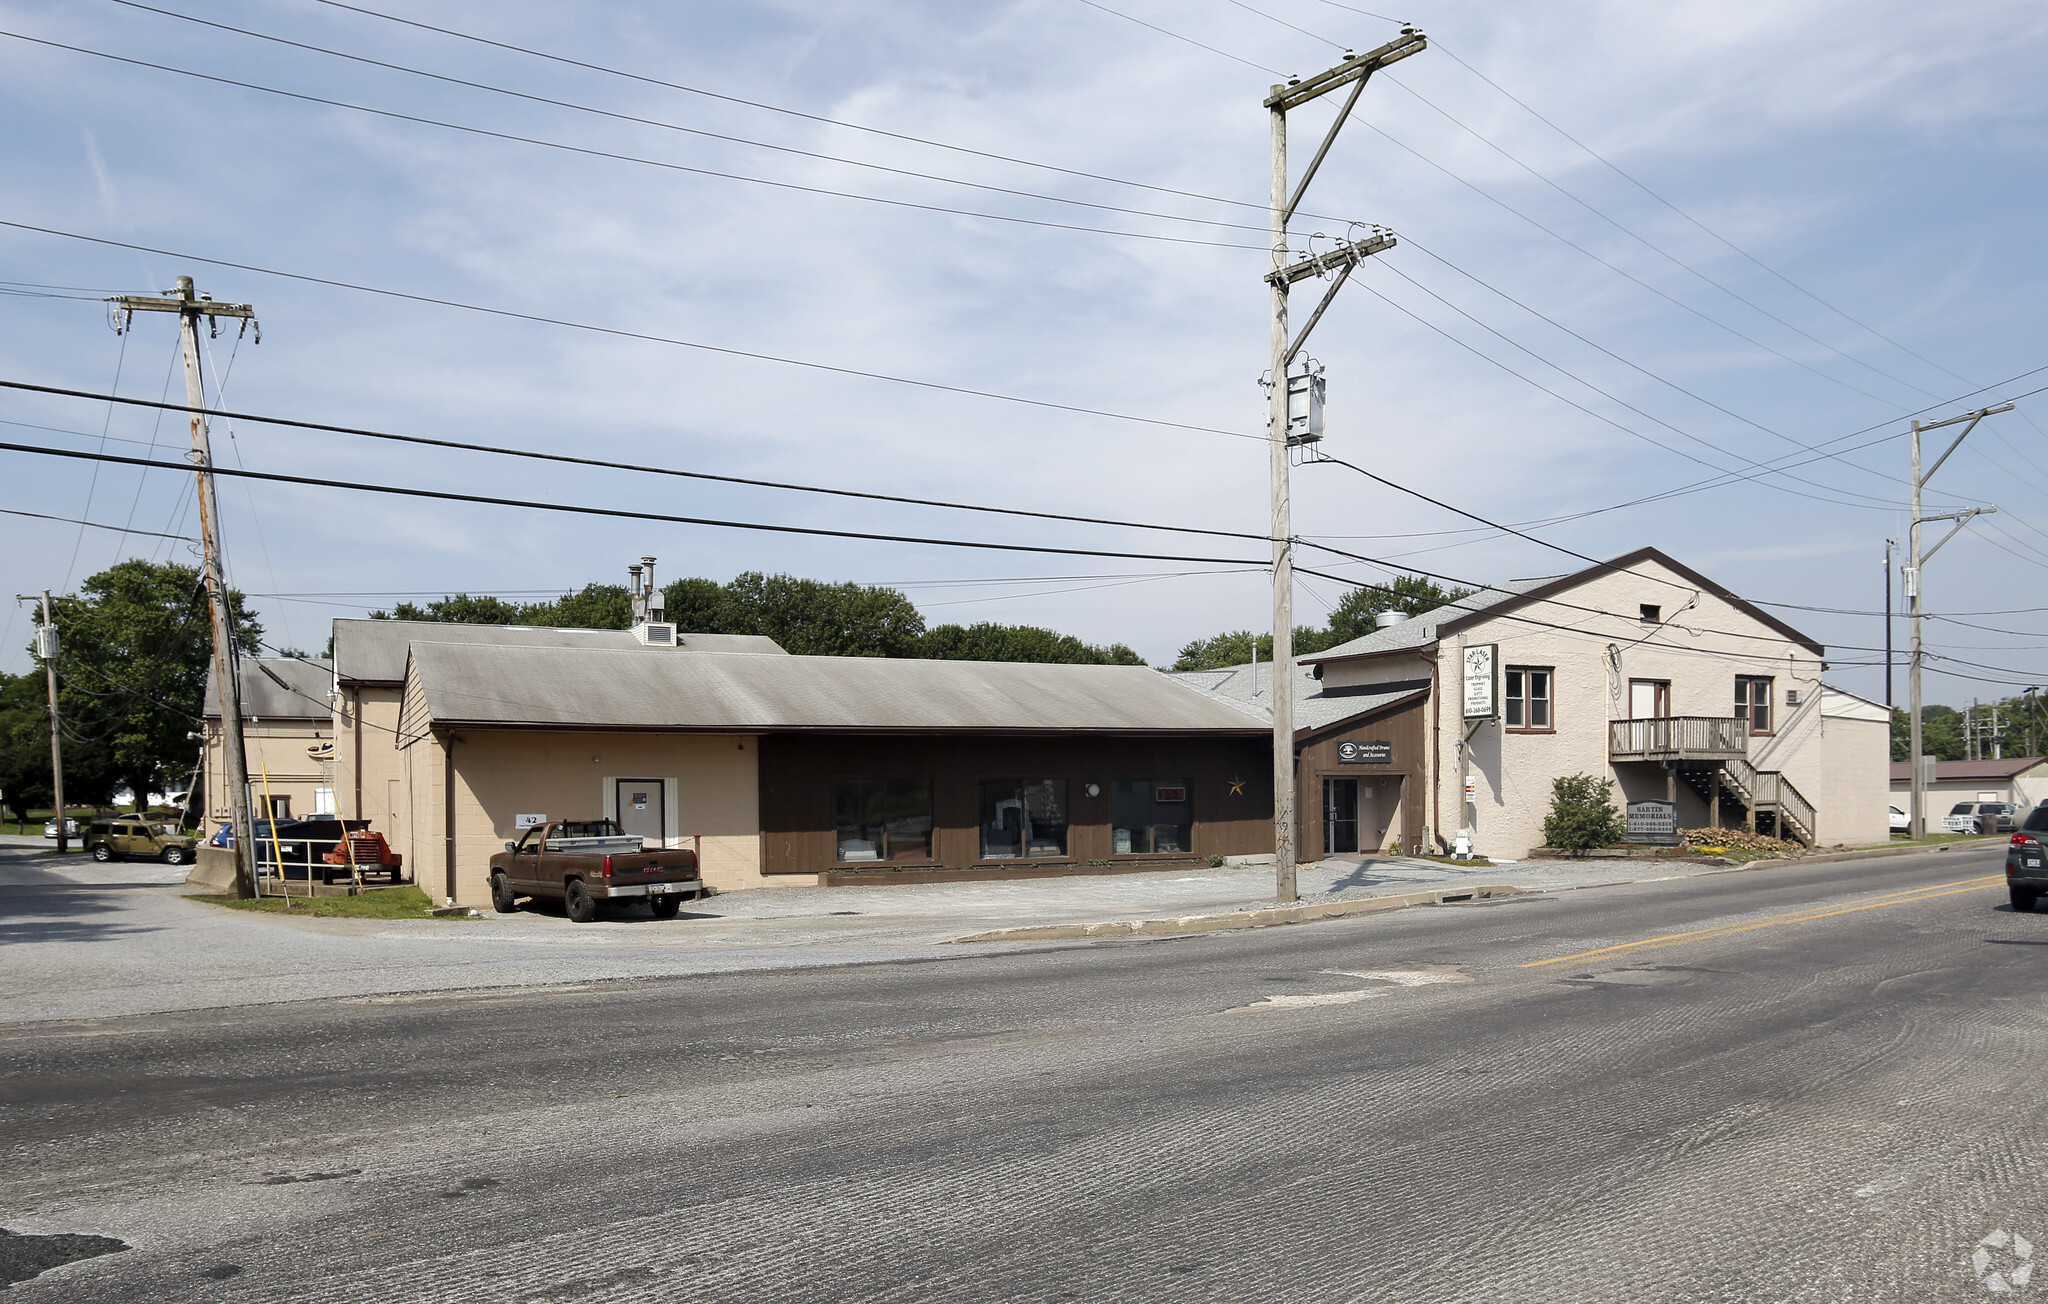
[[[760,741],[762,872],[817,874],[838,864],[834,784],[842,778],[932,780],[932,862],[862,868],[1059,864],[981,860],[979,782],[1063,778],[1071,805],[1067,862],[1112,856],[1110,782],[1186,778],[1194,805],[1190,856],[1272,854],[1270,743],[1260,737],[1026,735],[766,735]],[[1231,794],[1233,782],[1241,794]],[[1085,784],[1100,784],[1087,796]],[[1186,860],[1165,856],[1161,860]]]

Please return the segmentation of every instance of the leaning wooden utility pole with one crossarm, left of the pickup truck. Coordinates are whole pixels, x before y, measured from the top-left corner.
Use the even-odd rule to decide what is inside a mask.
[[[242,682],[236,657],[233,612],[227,606],[227,575],[221,569],[221,506],[213,495],[213,444],[207,438],[207,387],[199,371],[199,319],[219,334],[221,317],[238,317],[244,330],[256,321],[248,303],[213,303],[193,293],[193,278],[178,276],[170,297],[121,295],[115,301],[115,330],[127,330],[135,313],[178,313],[184,344],[184,405],[193,414],[193,469],[199,477],[199,538],[205,557],[207,618],[213,626],[213,682],[219,686],[221,778],[227,780],[227,809],[236,825],[236,895],[256,895],[256,823],[250,819],[248,755],[242,745]],[[256,328],[262,344],[262,328]],[[279,870],[283,872],[283,868]]]

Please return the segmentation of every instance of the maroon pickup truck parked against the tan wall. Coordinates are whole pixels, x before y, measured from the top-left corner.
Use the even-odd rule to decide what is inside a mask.
[[[492,856],[492,907],[518,909],[520,897],[559,899],[569,919],[590,923],[606,901],[645,901],[655,919],[674,919],[684,897],[702,897],[696,852],[643,852],[641,839],[608,819],[557,819],[526,829]]]

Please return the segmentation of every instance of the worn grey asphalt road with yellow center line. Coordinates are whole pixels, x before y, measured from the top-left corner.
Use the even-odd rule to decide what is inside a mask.
[[[2048,913],[2011,913],[1995,852],[934,952],[0,1028],[0,1279],[346,1304],[2048,1290]]]

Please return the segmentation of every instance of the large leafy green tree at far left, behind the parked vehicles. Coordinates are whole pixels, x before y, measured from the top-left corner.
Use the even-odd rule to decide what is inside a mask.
[[[262,626],[229,592],[236,649],[254,655]],[[135,800],[182,784],[193,772],[213,657],[213,633],[199,571],[188,565],[123,561],[88,577],[78,594],[51,604],[57,622],[57,710],[63,716],[63,796],[104,805],[117,788]],[[33,682],[37,688],[27,690]],[[41,671],[16,676],[0,692],[10,794],[37,788],[49,800],[49,712],[31,706]],[[39,759],[37,759],[39,757]],[[18,786],[20,784],[20,786]]]

